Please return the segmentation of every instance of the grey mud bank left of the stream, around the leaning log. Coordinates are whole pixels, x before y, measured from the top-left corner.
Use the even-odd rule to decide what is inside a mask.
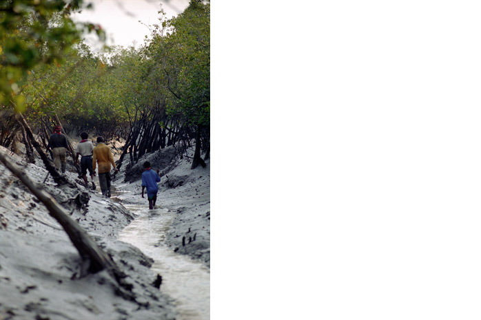
[[[4,148],[1,151],[10,153]],[[154,260],[118,239],[134,220],[121,204],[76,183],[57,186],[47,171],[12,156],[70,212],[128,275],[135,301],[105,271],[79,278],[80,257],[43,204],[0,164],[0,319],[175,319],[174,300],[152,286]]]

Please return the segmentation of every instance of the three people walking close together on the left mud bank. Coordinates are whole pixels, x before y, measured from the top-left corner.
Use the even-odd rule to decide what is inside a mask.
[[[47,149],[52,148],[55,168],[62,173],[65,173],[68,142],[65,135],[61,133],[61,129],[62,128],[59,125],[54,127],[54,133],[48,140]],[[88,187],[88,171],[90,173],[90,178],[92,178],[92,190],[95,190],[94,176],[96,175],[95,169],[98,167],[99,184],[102,195],[110,198],[110,170],[112,169],[110,164],[112,164],[115,172],[119,171],[119,169],[116,168],[112,151],[110,150],[110,147],[105,145],[101,136],[97,137],[96,147],[94,147],[94,144],[88,140],[88,134],[86,132],[82,132],[80,137],[82,140],[79,142],[79,145],[77,145],[75,150],[75,164],[79,163],[79,156],[81,156],[80,168],[85,186]]]

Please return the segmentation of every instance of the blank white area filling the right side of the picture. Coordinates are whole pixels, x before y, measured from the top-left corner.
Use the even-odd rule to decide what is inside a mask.
[[[480,9],[212,3],[212,319],[481,317]]]

